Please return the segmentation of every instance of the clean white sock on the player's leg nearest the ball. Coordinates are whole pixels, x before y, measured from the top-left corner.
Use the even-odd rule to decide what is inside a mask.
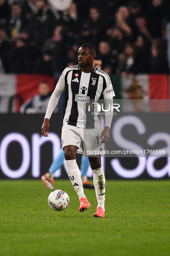
[[[81,199],[81,197],[86,198],[86,196],[84,194],[84,190],[83,190],[83,184],[81,181],[80,170],[77,165],[76,159],[65,160],[65,162],[66,162],[68,176],[71,180],[71,183],[72,183],[77,195],[79,196],[79,200]]]

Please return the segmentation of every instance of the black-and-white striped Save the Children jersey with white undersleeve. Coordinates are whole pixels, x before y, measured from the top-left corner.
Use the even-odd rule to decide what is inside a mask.
[[[45,118],[51,117],[59,96],[65,89],[67,92],[63,125],[82,128],[99,127],[100,120],[97,114],[89,112],[89,104],[102,99],[102,94],[104,99],[115,96],[108,74],[96,66],[91,73],[82,72],[79,65],[65,68],[51,95]]]

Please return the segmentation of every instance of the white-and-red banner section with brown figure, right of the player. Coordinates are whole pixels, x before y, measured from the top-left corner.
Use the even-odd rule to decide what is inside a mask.
[[[169,76],[139,74],[121,78],[121,98],[125,99],[123,101],[125,112],[167,112],[169,111]]]

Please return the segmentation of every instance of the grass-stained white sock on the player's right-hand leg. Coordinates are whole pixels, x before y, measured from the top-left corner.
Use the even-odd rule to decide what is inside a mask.
[[[98,201],[98,207],[102,207],[104,209],[104,201],[105,201],[105,176],[103,172],[103,167],[92,170],[93,172],[93,183],[95,188],[95,193]]]

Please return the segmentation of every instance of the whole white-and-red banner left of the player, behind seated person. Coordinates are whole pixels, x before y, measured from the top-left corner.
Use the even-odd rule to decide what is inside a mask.
[[[32,74],[0,74],[0,113],[19,113],[20,106],[38,94],[39,83],[46,81],[55,88],[54,77]]]

